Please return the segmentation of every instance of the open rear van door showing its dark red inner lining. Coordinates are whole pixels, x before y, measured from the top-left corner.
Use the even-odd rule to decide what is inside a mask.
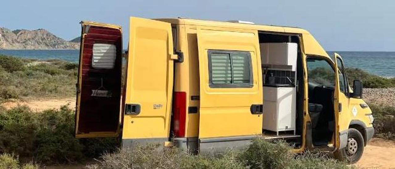
[[[120,26],[83,21],[75,137],[119,135],[122,66]]]

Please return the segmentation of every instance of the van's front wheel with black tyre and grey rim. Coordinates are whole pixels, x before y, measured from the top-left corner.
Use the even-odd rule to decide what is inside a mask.
[[[362,134],[354,129],[348,129],[347,145],[345,148],[336,150],[333,155],[337,160],[346,161],[348,164],[356,163],[361,159],[365,142]]]

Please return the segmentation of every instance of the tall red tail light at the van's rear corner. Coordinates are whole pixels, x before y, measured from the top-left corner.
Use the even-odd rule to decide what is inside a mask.
[[[185,137],[186,92],[174,92],[173,133],[175,137]]]

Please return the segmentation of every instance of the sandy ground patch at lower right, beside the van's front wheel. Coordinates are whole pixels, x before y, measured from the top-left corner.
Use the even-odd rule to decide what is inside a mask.
[[[363,156],[355,166],[358,168],[395,169],[395,141],[373,138],[365,147]]]

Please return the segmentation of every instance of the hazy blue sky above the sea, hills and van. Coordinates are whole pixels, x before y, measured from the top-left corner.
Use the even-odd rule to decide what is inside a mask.
[[[79,21],[119,24],[128,44],[129,17],[187,17],[297,26],[327,51],[395,51],[394,0],[3,0],[0,27],[44,28],[70,40]]]

